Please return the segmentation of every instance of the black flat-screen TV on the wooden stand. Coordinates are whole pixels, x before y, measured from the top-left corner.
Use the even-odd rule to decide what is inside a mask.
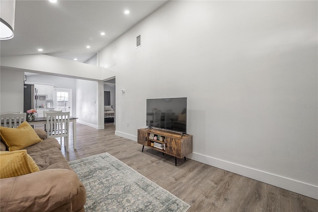
[[[187,98],[148,99],[147,126],[186,133]]]

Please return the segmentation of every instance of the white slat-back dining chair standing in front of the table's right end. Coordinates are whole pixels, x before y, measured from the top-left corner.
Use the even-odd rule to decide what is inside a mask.
[[[69,152],[69,128],[70,128],[70,112],[47,112],[46,113],[47,137],[62,137],[64,146],[66,145]]]

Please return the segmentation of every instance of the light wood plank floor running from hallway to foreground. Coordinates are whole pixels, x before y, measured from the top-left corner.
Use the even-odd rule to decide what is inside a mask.
[[[72,128],[72,127],[71,127]],[[189,212],[318,212],[318,200],[252,180],[194,160],[178,159],[116,136],[105,129],[77,124],[77,149],[62,152],[72,161],[108,152],[191,205]],[[63,145],[64,146],[64,145]]]

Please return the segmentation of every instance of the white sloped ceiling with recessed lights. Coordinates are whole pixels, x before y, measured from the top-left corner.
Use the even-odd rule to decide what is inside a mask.
[[[46,54],[85,62],[165,2],[16,0],[14,37],[0,41],[0,54]],[[124,14],[126,9],[130,10],[128,15]],[[106,34],[101,36],[100,32]],[[43,51],[38,52],[38,48]]]

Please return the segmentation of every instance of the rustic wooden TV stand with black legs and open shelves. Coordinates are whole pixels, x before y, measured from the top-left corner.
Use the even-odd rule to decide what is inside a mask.
[[[138,143],[143,145],[142,152],[144,147],[147,146],[174,156],[175,165],[177,165],[177,158],[186,160],[185,156],[192,153],[193,145],[192,135],[156,128],[138,129]]]

